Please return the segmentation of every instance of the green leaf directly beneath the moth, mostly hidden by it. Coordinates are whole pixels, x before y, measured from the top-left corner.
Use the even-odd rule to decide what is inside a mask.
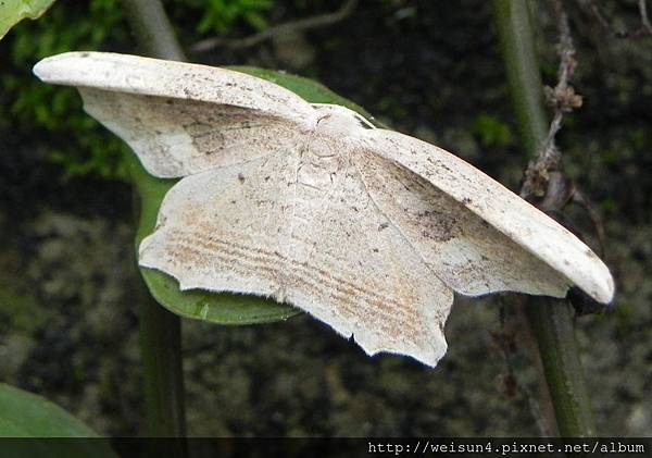
[[[325,86],[300,76],[269,70],[234,67],[284,86],[311,103],[337,103],[356,111],[367,119],[372,116],[355,103],[336,95]],[[159,207],[163,197],[177,182],[148,174],[135,154],[129,154],[131,180],[141,198],[137,247],[154,230]],[[258,296],[216,294],[201,289],[181,292],[176,280],[160,271],[140,269],[152,296],[165,308],[183,317],[220,324],[252,324],[286,320],[300,311],[291,306]]]

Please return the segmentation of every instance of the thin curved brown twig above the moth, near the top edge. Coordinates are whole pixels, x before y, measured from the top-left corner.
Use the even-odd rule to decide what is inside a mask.
[[[205,52],[218,47],[228,49],[251,48],[278,36],[333,25],[349,17],[356,7],[358,0],[347,0],[339,10],[333,13],[319,14],[280,24],[246,38],[208,38],[190,46],[190,50],[192,52]]]

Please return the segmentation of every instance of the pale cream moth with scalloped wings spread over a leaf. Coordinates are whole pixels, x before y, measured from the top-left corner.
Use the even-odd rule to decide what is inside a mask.
[[[614,283],[575,235],[434,145],[225,69],[99,52],[40,61],[149,173],[181,178],[139,263],[201,288],[273,297],[436,366],[453,293],[607,304]]]

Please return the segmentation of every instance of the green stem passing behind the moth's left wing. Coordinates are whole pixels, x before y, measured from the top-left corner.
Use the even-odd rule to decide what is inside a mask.
[[[122,0],[122,3],[142,52],[159,59],[185,60],[160,0]],[[141,289],[138,304],[147,434],[183,437],[186,411],[181,322],[152,299],[142,282]],[[183,454],[179,450],[174,455]]]

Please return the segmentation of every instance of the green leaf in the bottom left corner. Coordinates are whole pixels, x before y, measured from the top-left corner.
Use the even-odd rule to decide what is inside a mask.
[[[61,407],[0,383],[0,437],[95,437],[83,441],[0,441],[0,456],[115,457],[109,443]]]

